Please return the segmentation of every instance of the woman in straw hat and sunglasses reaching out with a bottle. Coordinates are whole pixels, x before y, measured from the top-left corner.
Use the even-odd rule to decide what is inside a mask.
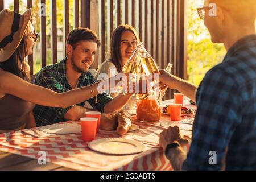
[[[0,12],[0,133],[35,127],[34,104],[65,108],[99,94],[99,82],[65,93],[30,84],[30,69],[24,59],[37,40],[31,14],[32,9],[23,14],[7,9]],[[105,89],[110,89],[109,82],[102,83],[109,85]],[[114,101],[112,109],[119,110],[123,105]]]

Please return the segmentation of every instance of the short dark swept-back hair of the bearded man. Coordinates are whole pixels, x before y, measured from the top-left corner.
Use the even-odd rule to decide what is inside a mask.
[[[89,28],[75,28],[71,32],[69,32],[68,37],[67,37],[67,43],[70,44],[73,49],[76,48],[77,43],[80,41],[93,41],[97,43],[97,47],[100,46],[100,40],[98,40],[98,36],[96,32],[90,30]]]

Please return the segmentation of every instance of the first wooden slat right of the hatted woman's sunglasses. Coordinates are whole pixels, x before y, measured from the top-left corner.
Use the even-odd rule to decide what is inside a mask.
[[[41,4],[46,4],[46,0],[41,0]],[[42,8],[42,6],[41,6]],[[41,66],[42,68],[46,66],[46,17],[41,16],[40,22],[40,32],[41,32]]]

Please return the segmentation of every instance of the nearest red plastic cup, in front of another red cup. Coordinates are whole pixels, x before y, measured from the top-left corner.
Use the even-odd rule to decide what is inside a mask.
[[[96,137],[98,118],[80,118],[82,127],[82,140],[90,142]]]

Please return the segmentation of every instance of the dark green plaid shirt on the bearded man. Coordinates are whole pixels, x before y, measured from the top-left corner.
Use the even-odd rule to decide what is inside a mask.
[[[80,76],[79,84],[77,88],[82,86],[92,85],[97,82],[97,80],[91,75],[90,72],[82,73]],[[68,84],[68,78],[66,73],[66,59],[56,63],[54,65],[47,65],[44,67],[35,78],[35,84],[44,86],[55,92],[67,92],[71,90],[71,86]],[[112,100],[109,94],[103,93],[97,96],[98,103],[96,104],[96,97],[92,97],[88,100],[89,104],[92,105],[94,109],[104,112],[104,106]],[[77,104],[79,106],[84,106],[85,101]],[[36,121],[36,126],[50,125],[52,123],[67,121],[64,115],[67,113],[72,106],[65,109],[61,107],[46,107],[41,105],[36,105],[34,108],[34,117]]]

